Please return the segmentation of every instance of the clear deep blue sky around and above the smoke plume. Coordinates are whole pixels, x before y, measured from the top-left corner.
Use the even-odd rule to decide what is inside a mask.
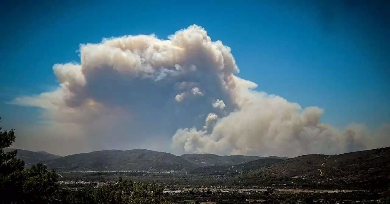
[[[228,45],[239,76],[258,90],[324,108],[322,121],[340,128],[390,122],[390,28],[388,6],[379,1],[29,2],[1,9],[0,115],[7,129],[36,122],[40,110],[6,102],[56,87],[52,66],[80,61],[80,44],[166,38],[191,24]]]

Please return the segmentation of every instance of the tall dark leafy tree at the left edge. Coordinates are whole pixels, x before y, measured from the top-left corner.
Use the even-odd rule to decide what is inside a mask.
[[[57,174],[46,166],[36,164],[24,169],[24,162],[16,158],[17,150],[4,152],[15,141],[15,131],[0,127],[0,203],[56,203],[58,202]]]

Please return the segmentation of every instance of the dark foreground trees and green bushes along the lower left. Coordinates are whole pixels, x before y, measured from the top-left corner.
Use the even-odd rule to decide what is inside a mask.
[[[15,131],[0,127],[0,204],[167,204],[163,188],[150,183],[133,183],[120,179],[115,184],[60,188],[58,174],[43,164],[25,169],[16,158],[16,150],[4,152],[15,141]]]

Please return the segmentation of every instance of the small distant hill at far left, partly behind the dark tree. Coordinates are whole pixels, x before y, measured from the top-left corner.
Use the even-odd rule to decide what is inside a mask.
[[[34,151],[14,149],[14,148],[4,149],[5,152],[9,152],[12,150],[18,151],[16,154],[16,157],[25,162],[26,168],[31,167],[34,164],[37,164],[40,162],[44,163],[44,162],[47,162],[48,160],[57,159],[57,158],[61,157],[61,156],[54,155],[54,154],[44,152],[44,151],[34,152]]]

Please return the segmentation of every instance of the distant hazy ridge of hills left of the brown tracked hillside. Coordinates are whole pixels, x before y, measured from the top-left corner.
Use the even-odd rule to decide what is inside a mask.
[[[204,166],[234,166],[248,161],[267,158],[245,155],[184,154],[174,155],[147,149],[100,150],[64,157],[44,151],[23,153],[27,167],[42,162],[49,170],[56,171],[188,171]],[[30,155],[30,156],[29,156]],[[38,157],[35,158],[34,157]],[[44,157],[43,159],[41,157]],[[279,157],[277,157],[279,158]]]

